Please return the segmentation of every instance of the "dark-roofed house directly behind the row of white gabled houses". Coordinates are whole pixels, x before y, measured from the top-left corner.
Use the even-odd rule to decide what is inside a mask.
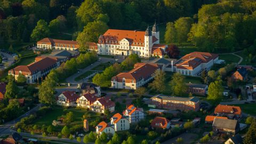
[[[97,97],[100,97],[101,95],[100,86],[93,83],[82,83],[80,89],[82,93],[94,94],[97,95]]]

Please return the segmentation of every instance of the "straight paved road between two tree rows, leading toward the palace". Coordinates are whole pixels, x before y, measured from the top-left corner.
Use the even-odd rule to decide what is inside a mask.
[[[101,61],[96,61],[96,62],[92,63],[92,65],[87,66],[86,68],[79,70],[79,73],[75,73],[74,75],[66,78],[66,82],[76,85],[76,84],[78,84],[78,82],[75,81],[76,77],[78,77],[79,75],[82,75],[83,73],[85,73],[88,70],[91,70],[94,67],[97,67],[98,65],[100,65],[100,63],[106,63],[106,62],[109,62],[109,61],[113,60],[111,58],[105,58],[105,57],[100,57],[100,58],[101,58]]]

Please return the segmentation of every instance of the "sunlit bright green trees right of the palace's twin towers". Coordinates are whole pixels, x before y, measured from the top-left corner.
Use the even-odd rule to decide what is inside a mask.
[[[165,41],[189,41],[209,52],[217,47],[234,51],[236,47],[250,46],[256,39],[255,10],[255,0],[203,5],[195,17],[167,23]]]

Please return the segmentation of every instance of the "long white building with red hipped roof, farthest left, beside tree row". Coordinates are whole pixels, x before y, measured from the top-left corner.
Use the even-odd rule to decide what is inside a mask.
[[[49,74],[52,69],[58,68],[59,66],[60,62],[46,57],[27,66],[17,66],[9,70],[8,74],[14,76],[15,80],[22,74],[26,77],[27,83],[35,83],[38,82],[38,79],[42,79]]]

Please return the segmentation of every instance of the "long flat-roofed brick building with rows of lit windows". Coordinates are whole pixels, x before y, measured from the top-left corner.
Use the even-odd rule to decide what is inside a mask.
[[[156,95],[151,97],[151,102],[158,108],[165,108],[170,110],[193,110],[199,109],[199,99],[196,97],[182,98],[182,97],[171,97],[165,95]]]

